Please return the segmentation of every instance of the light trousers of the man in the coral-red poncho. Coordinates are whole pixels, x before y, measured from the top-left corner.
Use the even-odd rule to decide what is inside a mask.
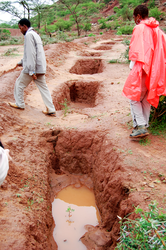
[[[149,127],[149,116],[150,116],[151,105],[147,101],[148,90],[145,85],[145,81],[146,81],[146,74],[143,71],[140,101],[130,100],[131,115],[134,127],[141,125]]]

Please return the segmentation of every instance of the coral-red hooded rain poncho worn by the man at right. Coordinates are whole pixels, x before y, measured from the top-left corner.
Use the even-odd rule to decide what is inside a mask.
[[[158,26],[158,21],[151,17],[134,27],[129,60],[136,63],[123,88],[124,96],[140,101],[143,69],[147,74],[147,100],[155,108],[159,96],[166,95],[166,35]]]

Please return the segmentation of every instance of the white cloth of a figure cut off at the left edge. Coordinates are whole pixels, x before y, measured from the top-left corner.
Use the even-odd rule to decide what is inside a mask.
[[[9,160],[8,160],[9,150],[0,147],[0,186],[7,176],[9,170]]]

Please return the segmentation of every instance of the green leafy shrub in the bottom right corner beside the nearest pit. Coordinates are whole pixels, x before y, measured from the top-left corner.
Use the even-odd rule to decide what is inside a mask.
[[[120,238],[116,249],[162,250],[166,246],[166,214],[159,213],[156,202],[149,205],[149,211],[139,207],[136,220],[120,218]]]

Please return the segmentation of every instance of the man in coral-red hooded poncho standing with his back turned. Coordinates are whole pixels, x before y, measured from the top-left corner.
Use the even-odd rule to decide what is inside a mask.
[[[130,138],[148,135],[151,105],[157,108],[159,96],[166,95],[166,35],[148,8],[138,5],[133,13],[137,24],[130,42],[131,72],[123,95],[130,99],[134,130]]]

